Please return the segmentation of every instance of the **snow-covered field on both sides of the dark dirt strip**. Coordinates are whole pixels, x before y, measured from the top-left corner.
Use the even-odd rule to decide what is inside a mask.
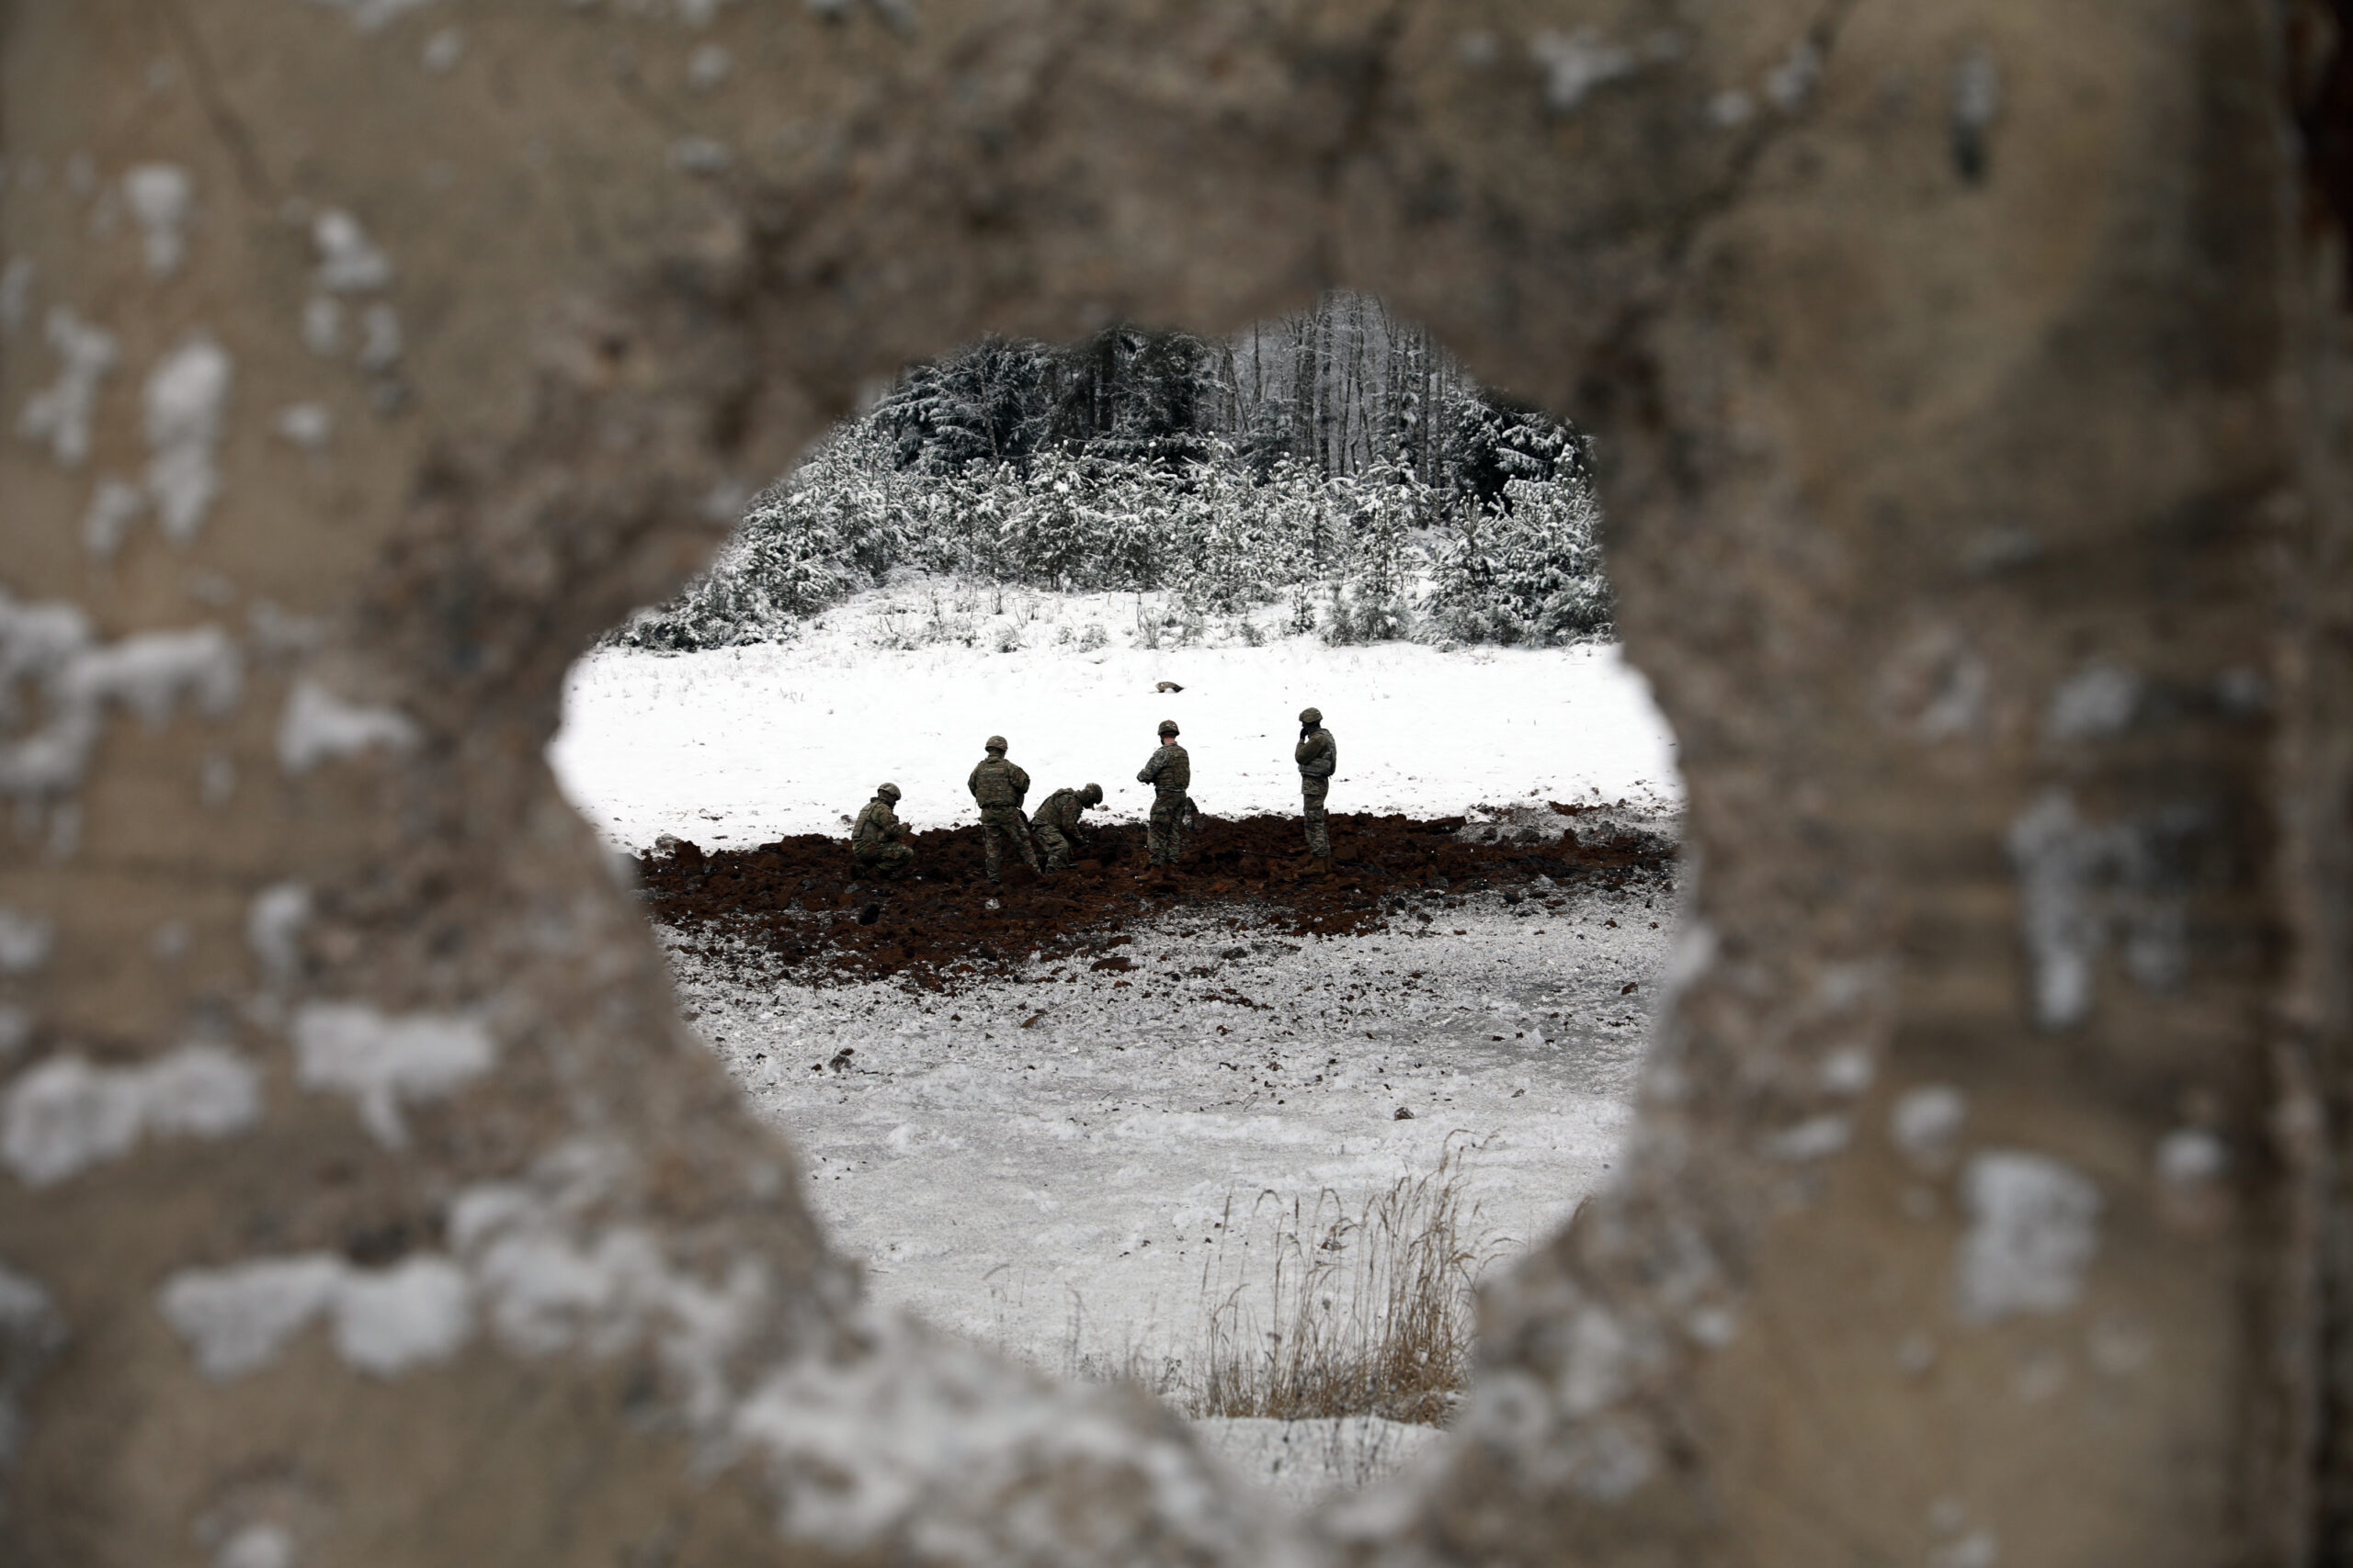
[[[1033,607],[1009,654],[988,628],[972,646],[878,649],[875,604],[786,646],[598,654],[574,670],[551,755],[619,844],[748,846],[842,832],[880,778],[918,825],[969,820],[962,778],[995,729],[1040,790],[1094,778],[1132,818],[1134,766],[1174,715],[1207,811],[1294,811],[1292,715],[1315,703],[1341,743],[1334,809],[1624,799],[1609,816],[1673,827],[1673,741],[1614,649],[1056,639],[1118,604]],[[1162,679],[1186,691],[1155,693]],[[1426,926],[1278,938],[1238,929],[1233,907],[1179,905],[1129,929],[1127,973],[1031,964],[951,994],[807,990],[758,954],[664,940],[680,1006],[793,1140],[878,1300],[1047,1371],[1174,1385],[1212,1295],[1261,1269],[1247,1248],[1278,1206],[1355,1208],[1452,1152],[1480,1234],[1508,1253],[1609,1180],[1673,889],[1454,889],[1426,910]],[[1294,1502],[1377,1479],[1431,1436],[1367,1420],[1205,1434]]]

